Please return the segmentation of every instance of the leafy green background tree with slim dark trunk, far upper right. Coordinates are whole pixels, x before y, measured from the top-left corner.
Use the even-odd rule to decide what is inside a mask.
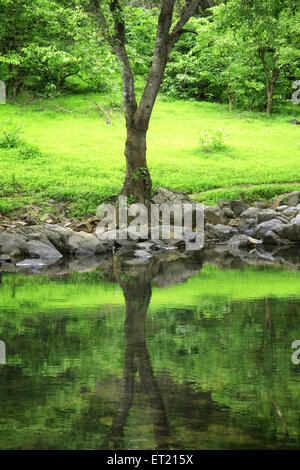
[[[298,1],[230,0],[214,8],[214,18],[236,33],[248,63],[259,60],[270,115],[279,79],[300,59]]]

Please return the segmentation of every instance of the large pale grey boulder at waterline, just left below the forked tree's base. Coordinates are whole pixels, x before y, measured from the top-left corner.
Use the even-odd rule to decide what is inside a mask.
[[[74,232],[66,242],[68,252],[72,255],[95,255],[100,253],[111,253],[112,243],[99,240],[92,233]]]

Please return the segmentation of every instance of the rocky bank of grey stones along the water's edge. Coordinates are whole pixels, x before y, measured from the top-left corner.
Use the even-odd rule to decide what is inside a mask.
[[[192,210],[196,210],[187,194],[165,188],[158,189],[153,203],[169,206],[191,204]],[[250,206],[241,200],[223,199],[218,206],[202,206],[201,210],[204,215],[202,249],[224,245],[229,249],[250,249],[259,253],[260,247],[263,250],[266,247],[276,250],[300,245],[300,192],[277,197],[271,205],[257,202]],[[63,257],[95,257],[117,252],[122,256],[125,254],[127,263],[135,266],[156,256],[158,252],[190,255],[187,244],[195,233],[200,233],[199,227],[194,233],[191,230],[182,233],[180,227],[170,224],[168,238],[161,236],[152,239],[151,235],[146,236],[144,233],[133,237],[130,231],[127,237],[122,237],[122,228],[117,230],[113,238],[105,239],[97,232],[101,221],[97,215],[79,222],[64,216],[58,222],[49,216],[47,223],[40,223],[29,214],[23,220],[6,219],[0,219],[0,262],[6,268],[8,264],[40,268],[55,264]]]

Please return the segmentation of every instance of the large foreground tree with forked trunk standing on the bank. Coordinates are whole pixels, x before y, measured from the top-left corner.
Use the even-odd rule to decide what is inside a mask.
[[[120,65],[123,84],[127,139],[125,144],[126,175],[121,194],[133,196],[135,202],[148,203],[151,200],[151,177],[146,161],[146,135],[153,106],[164,76],[170,51],[185,29],[189,18],[198,8],[207,10],[213,0],[190,0],[180,4],[177,17],[174,14],[175,0],[162,0],[156,30],[153,60],[148,80],[139,104],[136,99],[134,73],[126,49],[125,4],[122,0],[90,0],[92,12],[102,34],[106,37]]]

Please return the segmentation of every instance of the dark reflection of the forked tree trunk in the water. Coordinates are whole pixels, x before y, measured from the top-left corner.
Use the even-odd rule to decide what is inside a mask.
[[[154,434],[158,449],[168,448],[168,425],[164,403],[146,346],[146,313],[151,298],[151,280],[147,273],[137,278],[120,280],[126,304],[126,353],[123,376],[123,390],[119,411],[112,426],[109,441],[114,448],[120,448],[123,429],[133,401],[135,376],[138,372],[141,385],[149,400],[153,419]]]

